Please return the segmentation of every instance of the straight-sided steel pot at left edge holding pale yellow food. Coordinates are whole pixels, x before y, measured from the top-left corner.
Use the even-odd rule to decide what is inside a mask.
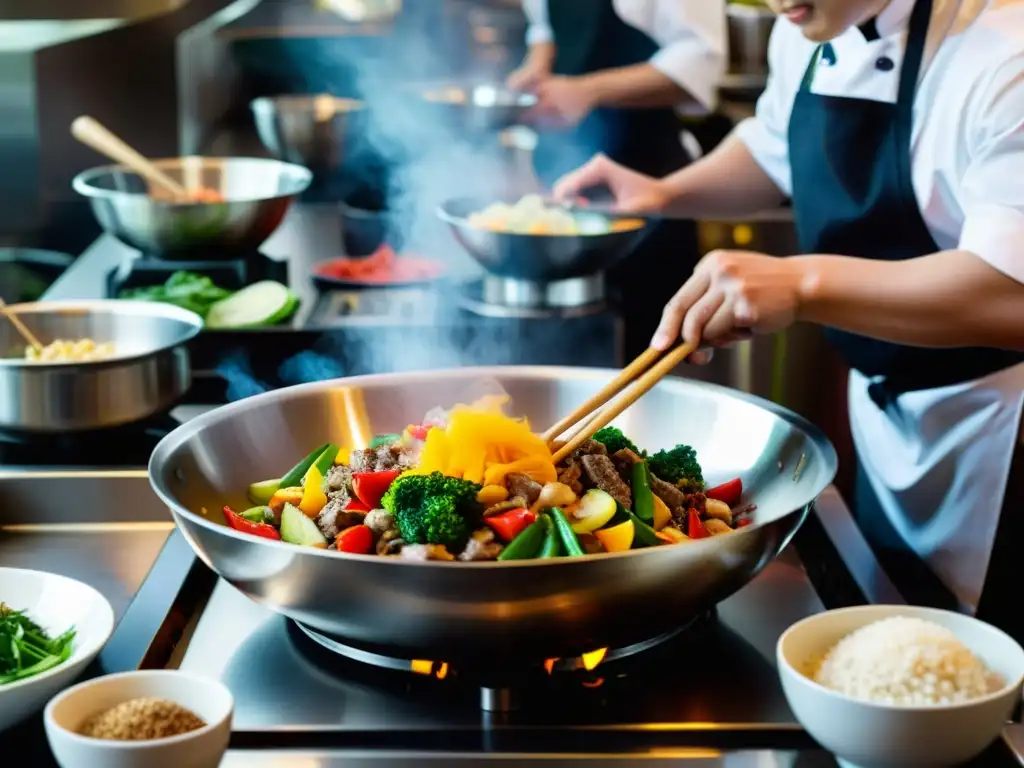
[[[95,362],[28,362],[25,341],[0,318],[0,430],[69,432],[140,421],[166,411],[191,385],[185,344],[198,314],[144,301],[51,301],[9,311],[42,344],[112,341]]]

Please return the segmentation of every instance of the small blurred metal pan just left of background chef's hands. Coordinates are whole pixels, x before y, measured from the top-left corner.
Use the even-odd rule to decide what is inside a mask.
[[[498,132],[526,123],[526,114],[537,105],[537,96],[508,89],[499,83],[459,85],[438,83],[421,86],[420,98],[447,113],[462,130]]]

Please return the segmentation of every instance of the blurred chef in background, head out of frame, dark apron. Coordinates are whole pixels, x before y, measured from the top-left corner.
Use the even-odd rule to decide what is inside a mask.
[[[601,152],[663,176],[690,162],[683,116],[717,100],[727,63],[725,0],[523,0],[529,52],[509,77],[535,92],[540,138],[534,166],[550,186]],[[692,221],[658,224],[609,284],[627,314],[627,353],[657,326],[669,286],[697,258]]]

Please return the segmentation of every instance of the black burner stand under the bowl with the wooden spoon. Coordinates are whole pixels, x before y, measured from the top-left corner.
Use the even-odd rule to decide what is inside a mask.
[[[106,295],[116,298],[129,288],[148,288],[162,285],[175,272],[202,274],[228,291],[239,291],[263,280],[288,283],[288,262],[272,259],[258,251],[241,254],[234,258],[209,258],[198,255],[196,259],[170,261],[157,254],[141,254],[123,261],[106,275]]]

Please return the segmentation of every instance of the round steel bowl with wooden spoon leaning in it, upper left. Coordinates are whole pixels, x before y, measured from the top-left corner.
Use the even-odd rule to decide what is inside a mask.
[[[177,259],[231,258],[263,244],[312,174],[258,158],[174,158],[154,163],[187,189],[206,187],[223,203],[161,200],[150,183],[121,166],[84,171],[72,185],[89,199],[99,225],[132,248]]]

